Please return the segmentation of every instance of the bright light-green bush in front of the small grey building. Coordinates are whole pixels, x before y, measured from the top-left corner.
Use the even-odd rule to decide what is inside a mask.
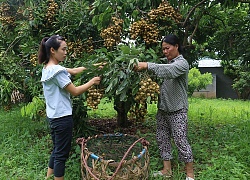
[[[190,69],[188,73],[188,96],[192,96],[195,90],[205,89],[212,84],[213,76],[211,73],[201,74],[197,68]]]

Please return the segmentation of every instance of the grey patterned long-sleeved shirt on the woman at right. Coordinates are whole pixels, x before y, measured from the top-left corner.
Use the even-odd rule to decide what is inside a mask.
[[[148,62],[148,70],[163,79],[160,85],[158,109],[165,112],[188,109],[189,64],[182,55],[172,59],[168,64]]]

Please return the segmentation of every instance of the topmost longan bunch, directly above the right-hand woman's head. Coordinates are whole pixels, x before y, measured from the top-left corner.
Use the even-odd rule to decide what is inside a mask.
[[[148,13],[149,19],[152,22],[155,22],[157,20],[168,20],[171,18],[176,23],[179,23],[182,16],[179,12],[177,12],[173,6],[171,6],[168,2],[163,1],[158,8],[152,9]]]

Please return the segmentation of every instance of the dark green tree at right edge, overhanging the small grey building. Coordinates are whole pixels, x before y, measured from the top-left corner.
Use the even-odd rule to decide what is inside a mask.
[[[249,98],[250,72],[250,14],[249,4],[243,4],[233,9],[221,10],[220,28],[208,41],[210,51],[218,53],[222,59],[225,74],[234,79],[233,88],[240,99]],[[240,19],[240,21],[239,21]],[[241,82],[241,83],[240,83]],[[246,83],[242,83],[246,82]]]

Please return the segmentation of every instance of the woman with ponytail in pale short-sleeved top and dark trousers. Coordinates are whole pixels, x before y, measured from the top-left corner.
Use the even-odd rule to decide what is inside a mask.
[[[101,80],[100,77],[94,77],[87,83],[76,87],[70,76],[80,73],[86,68],[65,68],[59,65],[64,61],[66,55],[67,44],[63,37],[53,35],[42,39],[38,62],[44,65],[41,82],[53,140],[47,178],[54,174],[55,180],[64,179],[65,162],[71,149],[73,118],[70,95],[80,95],[92,85],[98,85]]]

